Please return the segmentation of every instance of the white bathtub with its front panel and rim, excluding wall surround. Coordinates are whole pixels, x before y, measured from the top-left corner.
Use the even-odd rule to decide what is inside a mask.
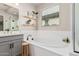
[[[69,56],[69,44],[56,46],[56,44],[48,45],[39,41],[26,41],[30,45],[31,56]],[[72,50],[71,50],[72,51]]]

